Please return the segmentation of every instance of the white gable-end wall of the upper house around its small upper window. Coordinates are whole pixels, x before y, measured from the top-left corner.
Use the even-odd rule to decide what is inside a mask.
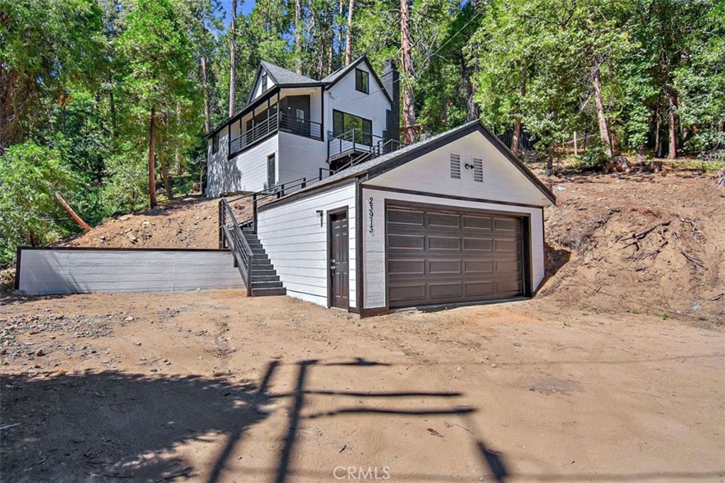
[[[357,68],[370,72],[365,62],[360,62]],[[386,111],[390,109],[390,103],[383,87],[376,83],[372,72],[370,72],[370,93],[356,91],[355,69],[352,69],[325,92],[325,129],[328,131],[332,131],[333,109],[370,119],[373,122],[373,134],[382,136],[386,128]]]

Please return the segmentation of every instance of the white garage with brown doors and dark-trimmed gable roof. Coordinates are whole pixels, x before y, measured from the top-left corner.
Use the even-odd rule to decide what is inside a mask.
[[[288,295],[362,315],[531,296],[555,196],[481,125],[362,162],[262,206]]]

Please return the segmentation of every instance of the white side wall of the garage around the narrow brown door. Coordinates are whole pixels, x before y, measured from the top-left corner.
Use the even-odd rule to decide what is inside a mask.
[[[260,212],[257,235],[287,295],[327,306],[327,212],[342,206],[348,207],[349,301],[355,307],[355,183]]]

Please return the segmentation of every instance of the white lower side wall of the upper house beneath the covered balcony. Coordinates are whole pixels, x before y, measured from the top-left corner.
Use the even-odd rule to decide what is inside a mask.
[[[220,148],[216,156],[210,156],[207,167],[207,196],[236,191],[259,191],[266,188],[267,157],[274,154],[279,175],[278,135],[252,146],[233,159],[227,159],[228,128],[222,130]],[[223,146],[222,146],[223,143]]]

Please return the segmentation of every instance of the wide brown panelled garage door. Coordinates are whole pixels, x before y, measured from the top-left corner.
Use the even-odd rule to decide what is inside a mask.
[[[523,220],[444,206],[386,206],[390,307],[523,295]]]

